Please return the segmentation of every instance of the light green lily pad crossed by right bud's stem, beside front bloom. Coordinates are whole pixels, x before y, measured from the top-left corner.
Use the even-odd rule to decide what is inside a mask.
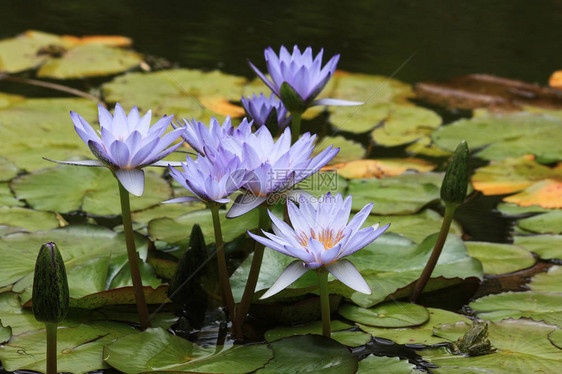
[[[365,225],[379,223],[384,226],[390,223],[387,232],[402,235],[416,243],[421,243],[428,234],[439,232],[443,217],[433,210],[425,209],[416,214],[408,216],[377,216],[371,215],[365,221]],[[451,223],[449,233],[458,236],[462,235],[462,228],[456,222]]]

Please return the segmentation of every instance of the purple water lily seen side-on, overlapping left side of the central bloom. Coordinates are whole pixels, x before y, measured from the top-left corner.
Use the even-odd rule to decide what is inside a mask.
[[[170,174],[183,187],[195,196],[183,196],[167,200],[165,203],[179,203],[200,200],[204,203],[230,202],[228,196],[236,192],[245,183],[247,171],[234,153],[219,147],[217,151],[207,149],[206,154],[199,154],[195,160],[187,157],[182,162],[183,171],[170,166]]]

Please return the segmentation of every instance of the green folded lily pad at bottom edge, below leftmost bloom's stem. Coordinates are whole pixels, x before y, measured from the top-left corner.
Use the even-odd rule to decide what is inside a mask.
[[[105,361],[124,373],[190,372],[243,374],[272,357],[267,345],[201,347],[161,328],[128,335],[104,349]],[[134,360],[131,360],[134,357]]]

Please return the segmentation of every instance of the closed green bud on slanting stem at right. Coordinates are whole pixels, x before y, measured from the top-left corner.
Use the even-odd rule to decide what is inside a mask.
[[[468,144],[466,140],[460,142],[453,153],[453,157],[445,178],[441,185],[441,199],[446,204],[461,204],[466,197],[468,188]]]

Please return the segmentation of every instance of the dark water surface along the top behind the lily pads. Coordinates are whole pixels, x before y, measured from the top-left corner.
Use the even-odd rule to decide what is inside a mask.
[[[545,83],[562,68],[562,1],[0,1],[0,37],[121,34],[181,66],[253,76],[263,49],[341,53],[339,67],[407,82],[489,73]]]

